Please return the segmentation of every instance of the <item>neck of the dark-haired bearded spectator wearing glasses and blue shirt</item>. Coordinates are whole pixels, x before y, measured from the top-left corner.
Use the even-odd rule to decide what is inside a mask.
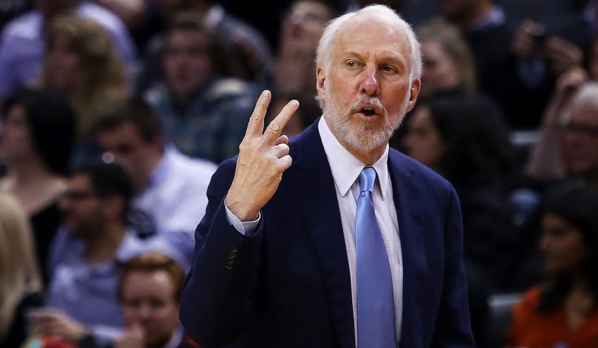
[[[125,236],[125,226],[121,222],[105,224],[94,233],[95,238],[88,239],[85,245],[84,259],[89,264],[101,264],[114,261],[116,251]]]

